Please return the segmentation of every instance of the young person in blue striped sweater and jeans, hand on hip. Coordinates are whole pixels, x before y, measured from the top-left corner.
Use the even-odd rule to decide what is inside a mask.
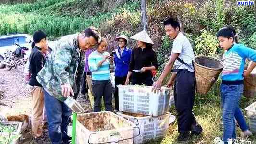
[[[236,139],[235,118],[246,124],[239,108],[239,100],[244,91],[244,77],[248,76],[256,66],[256,50],[234,43],[235,35],[231,27],[220,29],[217,37],[220,47],[225,50],[220,91],[223,108],[223,141],[224,144],[228,144]],[[252,62],[247,70],[244,70],[246,58]]]

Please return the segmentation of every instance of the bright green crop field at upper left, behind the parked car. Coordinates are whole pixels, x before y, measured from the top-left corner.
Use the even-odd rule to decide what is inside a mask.
[[[132,3],[131,7],[129,7],[128,4],[125,4],[122,10],[115,9],[113,12],[100,13],[89,18],[69,16],[62,17],[52,14],[41,15],[42,13],[33,11],[39,6],[41,8],[45,8],[57,2],[60,2],[60,0],[46,0],[33,5],[16,4],[10,7],[9,5],[1,5],[0,8],[3,9],[0,9],[0,34],[5,35],[13,32],[33,34],[34,31],[43,29],[50,37],[60,37],[81,32],[91,25],[99,27],[100,24],[111,19],[114,15],[124,11],[133,16],[134,11],[136,11],[136,8],[138,7],[138,2]],[[64,2],[66,1],[63,1],[62,3]],[[24,10],[24,8],[26,10]],[[137,22],[134,21],[134,23]]]

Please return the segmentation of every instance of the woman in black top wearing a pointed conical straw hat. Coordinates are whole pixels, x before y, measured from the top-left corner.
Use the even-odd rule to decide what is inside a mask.
[[[153,41],[144,30],[132,36],[131,39],[137,40],[138,48],[132,50],[125,84],[129,84],[133,73],[132,84],[152,86],[153,74],[151,71],[158,69],[157,54],[152,49]]]

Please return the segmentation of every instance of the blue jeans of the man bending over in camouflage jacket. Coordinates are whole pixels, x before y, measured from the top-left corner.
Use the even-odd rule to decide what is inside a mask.
[[[72,110],[63,102],[44,90],[45,110],[48,121],[48,132],[52,144],[69,144],[71,137],[67,135]]]

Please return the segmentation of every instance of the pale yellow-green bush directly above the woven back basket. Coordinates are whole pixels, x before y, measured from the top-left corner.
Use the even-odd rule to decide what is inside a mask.
[[[206,30],[203,30],[201,36],[195,40],[195,52],[197,55],[212,56],[218,54],[218,50],[219,44],[216,36]]]

